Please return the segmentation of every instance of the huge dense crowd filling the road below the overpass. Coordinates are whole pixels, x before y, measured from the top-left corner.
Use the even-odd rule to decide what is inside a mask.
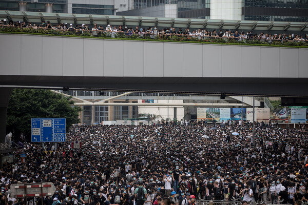
[[[238,135],[232,133],[237,132]],[[72,149],[79,138],[82,148]],[[14,136],[12,136],[12,140]],[[194,205],[308,201],[308,134],[252,123],[72,126],[66,142],[24,141],[25,162],[0,169],[0,204]],[[53,182],[44,198],[14,198],[10,185]]]

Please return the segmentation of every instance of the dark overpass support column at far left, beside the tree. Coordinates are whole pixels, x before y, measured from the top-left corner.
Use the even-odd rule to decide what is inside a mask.
[[[7,109],[10,101],[12,89],[0,88],[0,142],[4,142],[6,131]]]

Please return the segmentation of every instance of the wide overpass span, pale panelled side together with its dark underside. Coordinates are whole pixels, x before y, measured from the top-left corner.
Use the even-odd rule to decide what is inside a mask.
[[[0,85],[308,96],[308,49],[0,34]]]

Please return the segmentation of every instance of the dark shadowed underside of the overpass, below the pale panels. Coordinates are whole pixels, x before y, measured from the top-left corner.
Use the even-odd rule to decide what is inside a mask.
[[[308,69],[308,68],[307,68]],[[87,77],[0,75],[1,85],[132,92],[246,96],[308,96],[307,78]],[[3,86],[5,87],[5,86]]]

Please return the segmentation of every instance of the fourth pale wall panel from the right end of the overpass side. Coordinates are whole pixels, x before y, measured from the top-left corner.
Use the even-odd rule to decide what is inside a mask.
[[[260,77],[260,47],[241,48],[241,77]]]

